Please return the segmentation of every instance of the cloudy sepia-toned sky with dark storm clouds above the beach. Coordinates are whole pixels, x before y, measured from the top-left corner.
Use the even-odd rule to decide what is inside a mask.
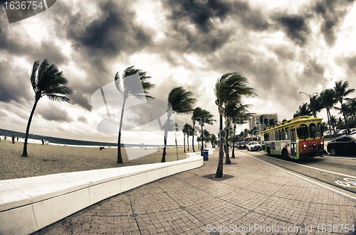
[[[182,86],[197,99],[195,106],[216,120],[216,80],[226,72],[241,72],[258,94],[242,101],[252,105],[251,112],[292,119],[309,101],[299,92],[321,92],[339,80],[356,88],[355,21],[355,1],[348,0],[57,0],[46,11],[15,23],[9,23],[1,5],[0,129],[26,131],[34,103],[32,65],[45,58],[63,71],[73,94],[70,104],[40,99],[30,129],[38,135],[115,143],[115,128],[98,131],[108,118],[98,92],[100,87],[111,90],[116,73],[122,76],[132,65],[151,77],[155,87],[149,94],[157,102],[167,101],[170,90]],[[122,101],[113,89],[105,97],[110,114],[118,115]],[[164,109],[156,116],[163,117]],[[318,116],[325,121],[325,109]],[[178,144],[190,118],[174,115]],[[146,120],[126,128],[122,142],[160,144],[157,125],[157,120]],[[205,128],[217,135],[219,123]],[[237,132],[245,128],[238,126]],[[173,144],[170,135],[168,143]]]

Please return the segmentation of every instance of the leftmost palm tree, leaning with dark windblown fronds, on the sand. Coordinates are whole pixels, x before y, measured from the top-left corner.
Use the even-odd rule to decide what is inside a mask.
[[[47,59],[44,59],[41,65],[39,60],[33,63],[31,84],[35,92],[35,104],[33,104],[27,123],[25,142],[23,143],[23,157],[27,157],[28,132],[30,131],[33,113],[38,101],[41,97],[46,96],[52,101],[70,103],[70,99],[65,96],[66,94],[72,94],[72,89],[67,87],[67,82],[67,79],[62,76],[62,72],[59,72],[57,65],[49,65]]]

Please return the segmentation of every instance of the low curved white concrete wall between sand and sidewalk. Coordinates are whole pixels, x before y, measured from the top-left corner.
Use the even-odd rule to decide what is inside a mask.
[[[168,163],[0,180],[0,234],[31,234],[108,197],[204,164],[200,152],[188,155]]]

